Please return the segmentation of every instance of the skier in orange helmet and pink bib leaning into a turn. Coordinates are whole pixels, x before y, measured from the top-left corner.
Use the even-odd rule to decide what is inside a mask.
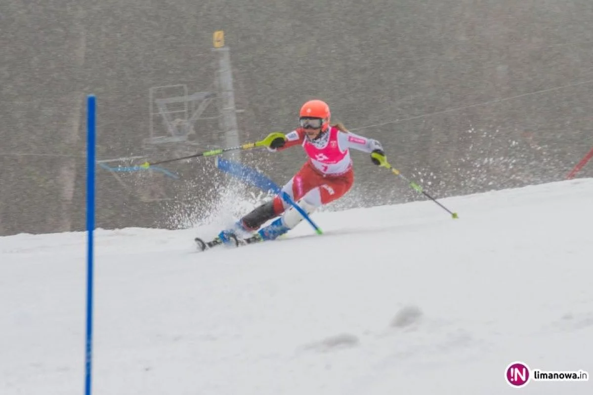
[[[270,142],[268,150],[278,152],[289,147],[302,145],[309,159],[282,188],[307,214],[317,208],[341,198],[352,187],[354,174],[349,149],[376,153],[385,158],[377,140],[351,133],[340,124],[330,125],[330,108],[321,100],[307,101],[299,113],[300,127]],[[380,161],[372,158],[375,165]],[[268,226],[262,224],[274,219]],[[222,243],[231,242],[237,236],[253,235],[260,240],[273,240],[294,229],[303,217],[276,195],[238,220],[231,229],[223,230],[218,238]]]

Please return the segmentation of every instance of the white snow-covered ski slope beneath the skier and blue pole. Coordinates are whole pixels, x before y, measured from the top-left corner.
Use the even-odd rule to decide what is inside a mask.
[[[593,393],[593,179],[321,213],[290,239],[97,232],[94,393]],[[85,234],[0,237],[0,394],[84,389]]]

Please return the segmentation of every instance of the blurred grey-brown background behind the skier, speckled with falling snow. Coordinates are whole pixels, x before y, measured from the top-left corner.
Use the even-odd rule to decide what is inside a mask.
[[[0,18],[0,235],[83,229],[85,95],[98,157],[143,155],[149,89],[212,89],[221,29],[242,141],[290,131],[322,98],[439,197],[560,180],[593,146],[585,0],[4,0]],[[200,149],[221,146],[215,129],[196,125]],[[356,187],[333,207],[419,198],[353,156]],[[282,184],[305,156],[244,158]],[[97,226],[170,226],[221,193],[211,160],[167,168],[183,178],[148,181],[171,199],[151,202],[139,175],[124,188],[98,169]]]

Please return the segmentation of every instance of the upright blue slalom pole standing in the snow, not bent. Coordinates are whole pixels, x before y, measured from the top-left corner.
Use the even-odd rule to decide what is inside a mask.
[[[87,96],[87,344],[85,395],[91,394],[93,361],[93,244],[95,230],[95,97]]]

